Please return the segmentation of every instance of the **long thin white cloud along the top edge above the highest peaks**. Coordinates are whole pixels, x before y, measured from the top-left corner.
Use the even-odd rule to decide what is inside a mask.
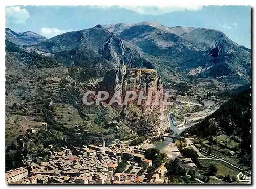
[[[171,13],[175,11],[198,11],[203,8],[203,6],[133,6],[133,5],[120,5],[120,6],[90,6],[93,8],[109,9],[111,7],[118,7],[127,10],[131,10],[142,15],[162,15],[166,13]]]

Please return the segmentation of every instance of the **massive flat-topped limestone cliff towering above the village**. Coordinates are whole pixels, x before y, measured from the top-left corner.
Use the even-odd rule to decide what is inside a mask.
[[[155,69],[132,69],[121,65],[119,68],[112,69],[106,73],[103,82],[100,84],[100,90],[109,92],[110,101],[116,91],[121,94],[121,105],[113,103],[111,106],[120,112],[122,119],[127,125],[139,135],[149,134],[160,131],[166,127],[164,117],[163,87],[160,76]],[[137,94],[136,99],[124,104],[127,91],[134,91]],[[149,104],[146,100],[138,105],[139,93],[143,96],[152,94]],[[154,105],[159,94],[159,104]]]

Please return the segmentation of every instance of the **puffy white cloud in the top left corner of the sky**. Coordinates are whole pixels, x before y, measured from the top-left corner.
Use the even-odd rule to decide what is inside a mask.
[[[30,17],[29,12],[26,9],[22,9],[19,6],[11,6],[5,8],[6,21],[12,23],[25,23]]]

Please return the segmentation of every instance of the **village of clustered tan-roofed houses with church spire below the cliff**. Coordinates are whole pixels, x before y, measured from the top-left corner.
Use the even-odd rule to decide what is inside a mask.
[[[145,159],[144,153],[125,143],[112,144],[106,147],[104,138],[102,144],[83,145],[83,147],[62,147],[62,151],[48,148],[48,160],[30,168],[17,168],[6,172],[6,183],[22,184],[145,184],[168,183],[165,177],[167,172],[164,164],[169,161],[165,158],[152,177],[147,179],[145,172],[152,166],[152,160]],[[120,164],[126,167],[117,171]],[[138,175],[139,171],[142,175]],[[123,173],[125,172],[125,173]]]

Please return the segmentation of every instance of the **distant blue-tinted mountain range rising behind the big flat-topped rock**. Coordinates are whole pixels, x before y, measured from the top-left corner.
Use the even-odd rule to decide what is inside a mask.
[[[95,69],[115,68],[122,63],[131,68],[156,68],[163,80],[169,82],[176,71],[183,79],[205,77],[227,83],[250,82],[250,49],[214,29],[169,28],[147,21],[97,25],[50,39],[6,28],[6,39],[27,51],[55,58],[65,66],[89,64],[94,69],[88,60],[96,56],[102,65]]]

